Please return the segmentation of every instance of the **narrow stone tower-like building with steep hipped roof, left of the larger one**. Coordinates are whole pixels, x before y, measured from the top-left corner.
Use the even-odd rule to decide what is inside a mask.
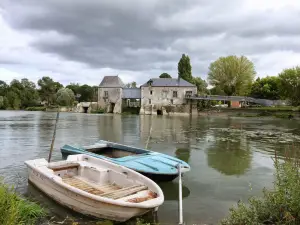
[[[98,89],[98,107],[108,113],[121,113],[124,86],[119,76],[105,76]]]

